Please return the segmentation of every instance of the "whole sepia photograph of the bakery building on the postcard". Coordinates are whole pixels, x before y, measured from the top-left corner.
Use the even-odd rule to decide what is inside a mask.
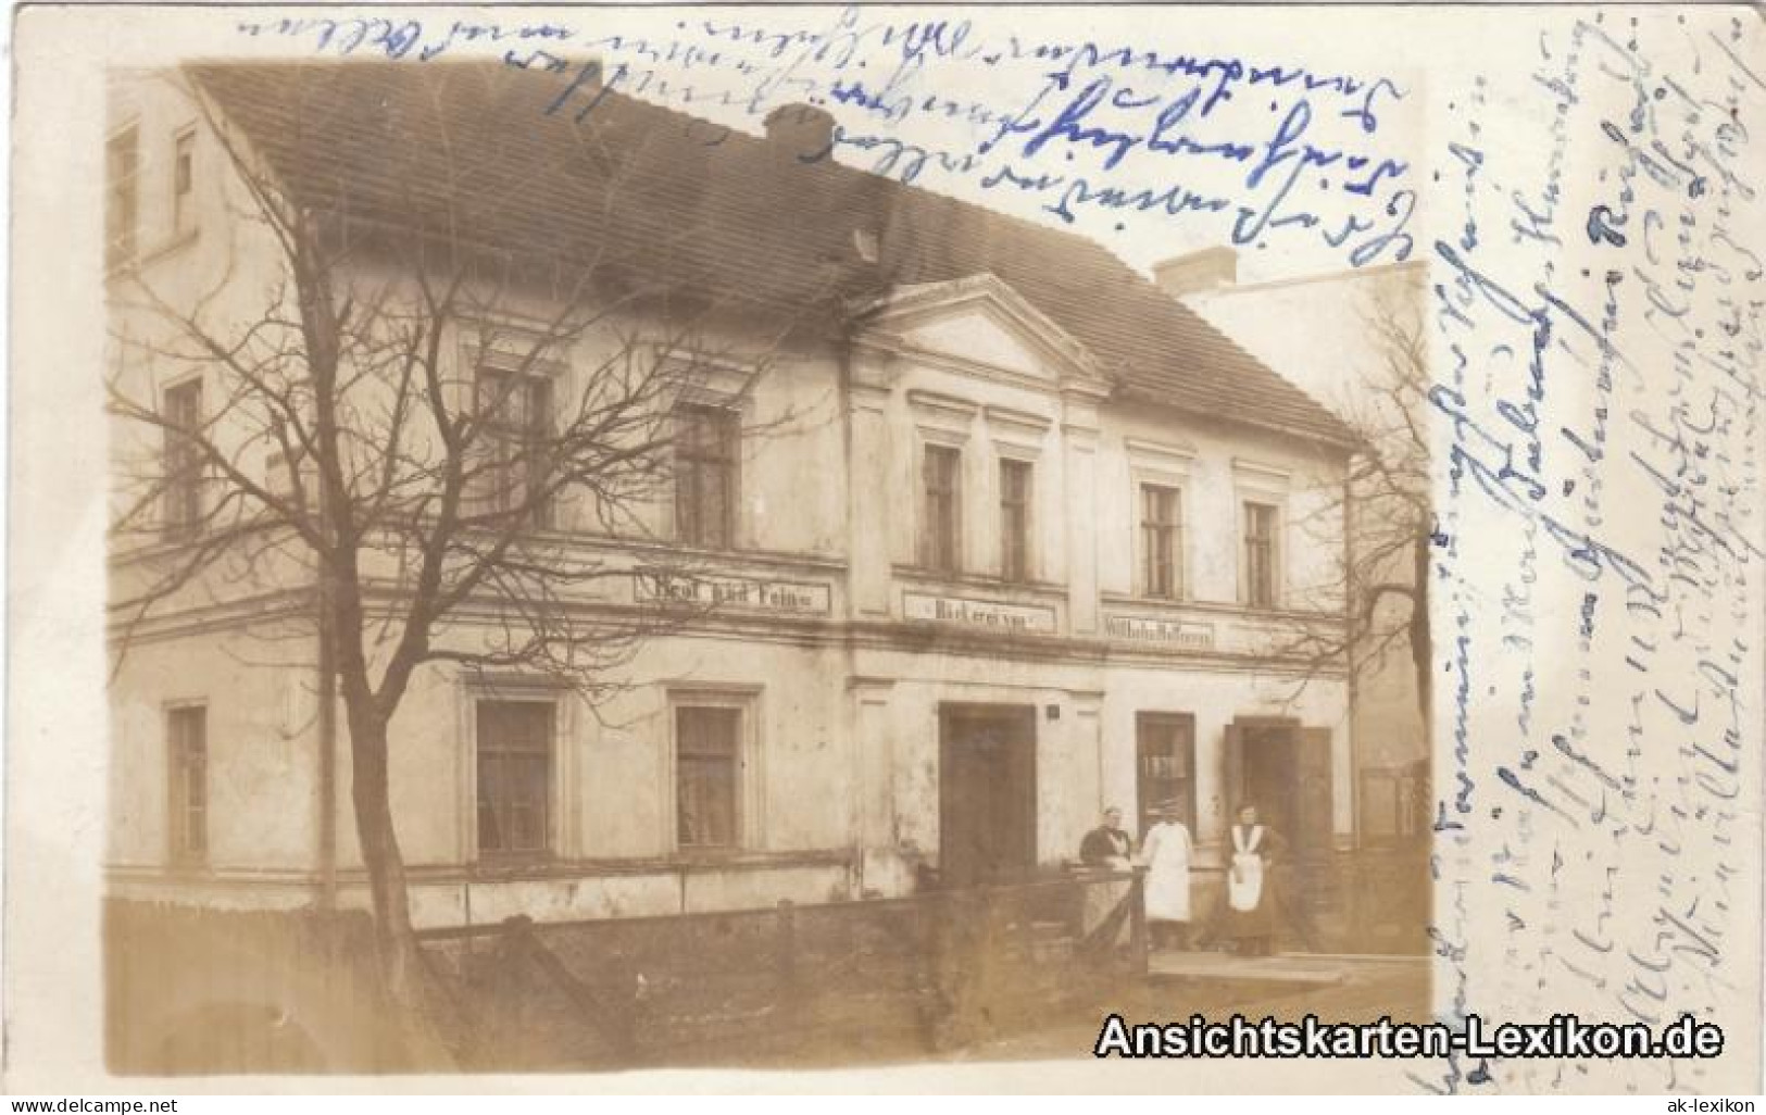
[[[812,104],[109,95],[117,1069],[1425,1013],[1418,272],[1309,283],[1370,315],[1339,415],[1192,306],[1280,297],[1231,247],[1136,274]]]

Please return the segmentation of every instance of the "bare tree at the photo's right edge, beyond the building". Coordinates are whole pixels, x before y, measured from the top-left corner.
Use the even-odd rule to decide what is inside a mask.
[[[1416,709],[1430,723],[1429,553],[1434,512],[1429,498],[1429,366],[1422,320],[1393,300],[1363,313],[1377,364],[1370,364],[1340,417],[1355,454],[1342,486],[1307,514],[1303,527],[1340,530],[1344,557],[1323,597],[1340,601],[1344,622],[1296,622],[1280,636],[1280,654],[1305,677],[1347,664],[1365,677],[1408,654]]]

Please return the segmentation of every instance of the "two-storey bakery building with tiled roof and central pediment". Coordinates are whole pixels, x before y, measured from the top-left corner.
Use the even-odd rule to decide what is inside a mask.
[[[1347,682],[1296,686],[1280,654],[1294,624],[1340,622],[1342,525],[1317,521],[1342,489],[1339,419],[1095,242],[804,161],[825,113],[784,110],[766,136],[604,92],[547,113],[570,80],[242,64],[111,88],[118,336],[162,329],[143,284],[208,315],[274,288],[223,134],[283,196],[362,230],[364,270],[387,265],[383,237],[445,228],[595,267],[592,292],[666,281],[738,307],[706,341],[715,375],[676,403],[671,495],[630,525],[586,498],[537,525],[629,564],[583,608],[715,606],[646,641],[595,707],[519,670],[419,675],[392,724],[419,924],[1030,875],[1074,859],[1106,804],[1139,829],[1166,799],[1215,876],[1243,799],[1303,875],[1355,850]],[[546,315],[510,299],[510,323]],[[452,341],[500,375],[493,345]],[[521,412],[579,389],[599,343],[537,373]],[[214,413],[201,364],[129,355],[152,348],[118,346],[113,375],[177,422]],[[115,468],[154,452],[175,449],[120,433]],[[261,482],[288,466],[267,451]],[[175,486],[164,541],[115,551],[113,578],[201,544],[178,525],[207,491]],[[660,551],[701,574],[646,576]],[[313,599],[290,576],[117,617],[113,894],[307,906],[332,880],[366,901],[311,641],[265,634]],[[480,622],[491,638],[500,617]]]

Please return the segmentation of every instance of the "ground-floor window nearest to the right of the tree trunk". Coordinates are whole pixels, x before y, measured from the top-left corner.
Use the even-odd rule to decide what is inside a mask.
[[[479,852],[551,846],[553,703],[479,702]]]

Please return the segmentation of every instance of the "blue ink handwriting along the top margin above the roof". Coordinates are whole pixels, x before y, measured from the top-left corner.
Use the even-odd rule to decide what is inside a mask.
[[[1372,265],[1416,251],[1408,80],[1180,35],[1063,34],[1007,11],[685,9],[623,18],[459,21],[307,16],[238,23],[321,57],[433,62],[496,49],[586,118],[615,90],[738,127],[784,104],[835,118],[825,157],[1031,212],[1134,254],[1148,237],[1312,251]],[[1169,253],[1166,253],[1169,254]],[[1136,262],[1136,260],[1132,260]]]

